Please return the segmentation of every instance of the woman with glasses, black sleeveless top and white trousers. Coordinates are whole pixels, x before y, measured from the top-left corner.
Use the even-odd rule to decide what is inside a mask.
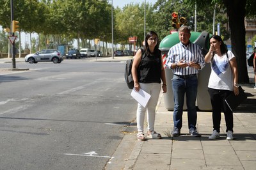
[[[138,141],[145,141],[143,131],[146,111],[148,121],[147,136],[152,139],[161,139],[161,134],[154,130],[154,123],[156,118],[156,105],[161,86],[163,93],[166,93],[166,78],[161,58],[161,50],[159,50],[158,47],[159,41],[157,33],[154,31],[148,32],[145,37],[144,47],[136,52],[132,63],[134,89],[139,91],[141,88],[151,95],[146,108],[138,103],[136,112]],[[161,82],[163,82],[162,85]]]

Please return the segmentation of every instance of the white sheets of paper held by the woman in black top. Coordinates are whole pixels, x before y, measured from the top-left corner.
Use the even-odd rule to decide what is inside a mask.
[[[148,104],[148,100],[150,99],[151,95],[148,94],[146,91],[140,88],[139,91],[136,91],[134,88],[132,89],[131,96],[137,100],[139,104],[143,107],[146,107]]]

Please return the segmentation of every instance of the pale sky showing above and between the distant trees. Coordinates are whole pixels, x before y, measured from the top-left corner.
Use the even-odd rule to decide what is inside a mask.
[[[111,0],[113,1],[113,6],[116,8],[117,6],[119,8],[123,8],[125,6],[125,4],[130,4],[130,3],[144,3],[146,1],[146,3],[151,3],[154,4],[157,2],[157,0]],[[109,1],[109,3],[112,3],[111,1]],[[33,36],[37,36],[37,34],[33,35]],[[21,33],[21,45],[24,48],[25,46],[25,41],[26,41],[26,33]],[[27,41],[28,41],[29,36],[27,36]],[[29,43],[29,41],[28,41]],[[74,44],[76,46],[76,44]]]

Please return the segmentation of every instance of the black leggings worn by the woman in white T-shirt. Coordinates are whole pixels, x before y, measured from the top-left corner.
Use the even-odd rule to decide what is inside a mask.
[[[220,132],[220,121],[221,121],[221,111],[224,112],[226,121],[226,132],[231,130],[233,132],[233,112],[229,109],[228,105],[225,103],[225,98],[228,97],[233,91],[224,89],[212,89],[208,88],[209,95],[211,97],[212,104],[212,122],[213,130]]]

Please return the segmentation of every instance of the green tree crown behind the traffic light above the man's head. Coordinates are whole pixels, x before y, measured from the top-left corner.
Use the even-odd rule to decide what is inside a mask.
[[[196,12],[197,24],[196,31],[207,31],[212,33],[212,16],[214,6],[207,6],[207,8],[199,8]],[[209,12],[209,11],[212,11]],[[227,17],[225,10],[221,8],[216,9],[216,23],[220,22],[221,34],[225,35],[225,40],[229,38],[229,33],[225,28],[227,23]],[[195,30],[195,6],[191,7],[188,4],[182,3],[180,0],[158,0],[154,4],[154,24],[155,30],[159,33],[159,37],[163,39],[166,35],[170,34],[170,31],[176,31],[172,27],[172,12],[177,12],[179,17],[185,17],[187,20],[187,26],[191,27],[191,30]]]

